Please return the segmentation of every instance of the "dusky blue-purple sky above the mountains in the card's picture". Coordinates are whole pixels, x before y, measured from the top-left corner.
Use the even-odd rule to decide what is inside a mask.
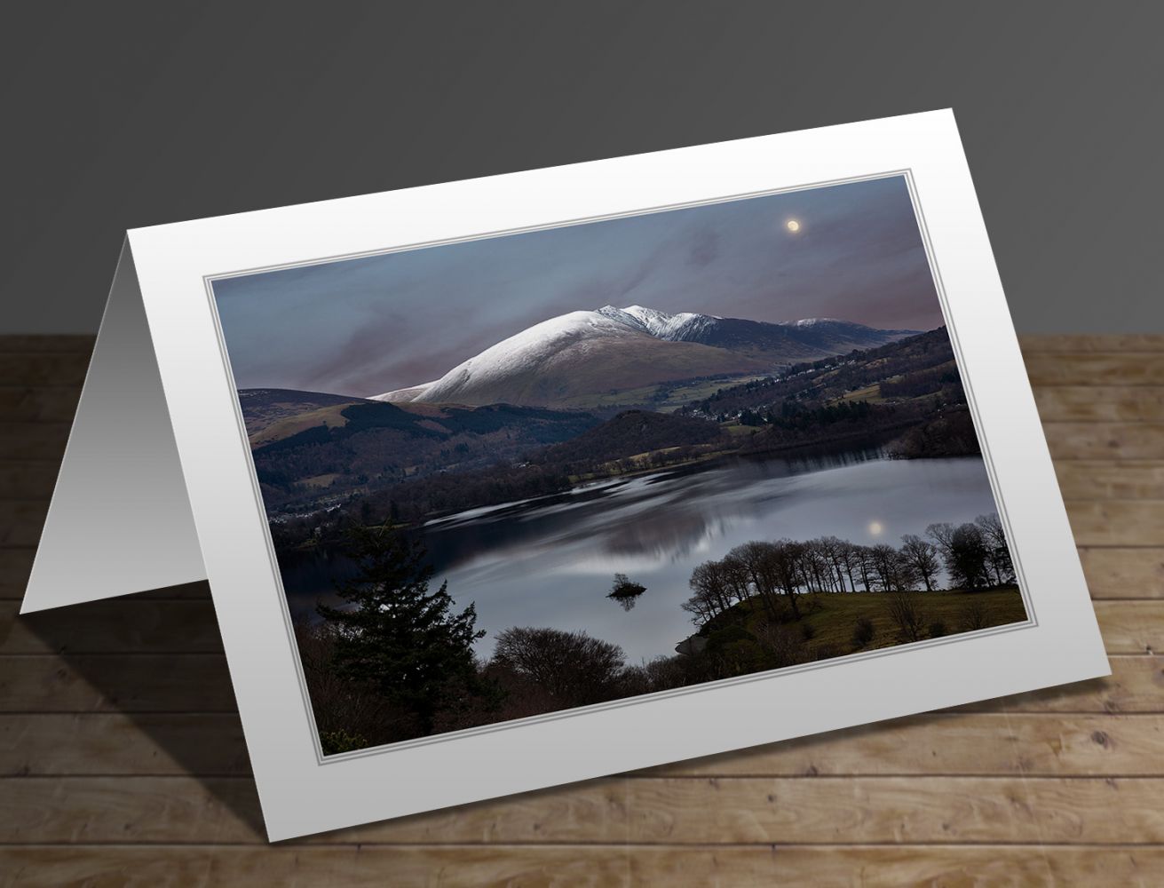
[[[943,322],[902,177],[229,278],[214,293],[239,388],[353,396],[435,379],[606,304]]]

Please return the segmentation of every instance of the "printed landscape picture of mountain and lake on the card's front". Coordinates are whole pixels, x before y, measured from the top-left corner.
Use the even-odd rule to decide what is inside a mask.
[[[325,755],[1027,621],[903,176],[212,289]]]

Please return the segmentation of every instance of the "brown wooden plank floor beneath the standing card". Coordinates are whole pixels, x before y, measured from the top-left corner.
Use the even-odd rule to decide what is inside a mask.
[[[0,885],[1164,885],[1164,336],[1023,342],[1110,679],[277,846],[205,584],[16,617],[91,344],[0,339]]]

